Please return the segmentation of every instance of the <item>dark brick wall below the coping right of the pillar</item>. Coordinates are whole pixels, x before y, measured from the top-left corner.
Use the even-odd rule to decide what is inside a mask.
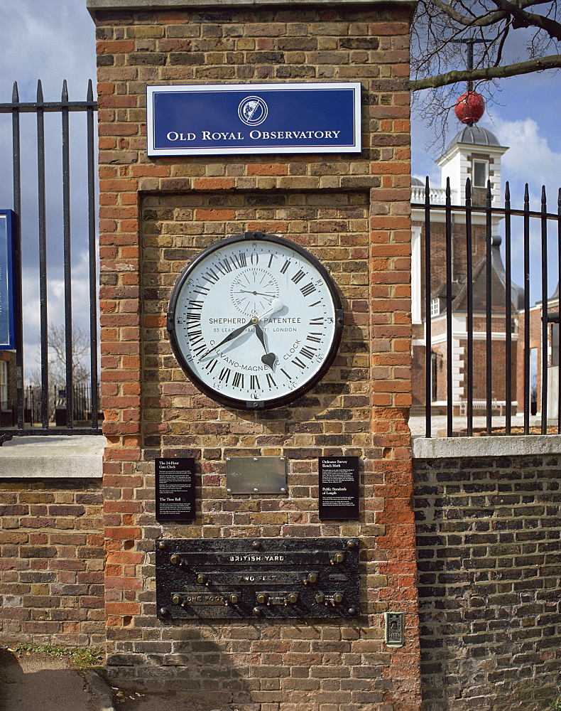
[[[561,455],[415,459],[424,711],[543,711],[561,661]]]

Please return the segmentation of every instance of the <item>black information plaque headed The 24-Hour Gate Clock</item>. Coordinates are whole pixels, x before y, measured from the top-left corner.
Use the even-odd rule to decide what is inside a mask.
[[[195,459],[156,459],[156,520],[195,518]]]

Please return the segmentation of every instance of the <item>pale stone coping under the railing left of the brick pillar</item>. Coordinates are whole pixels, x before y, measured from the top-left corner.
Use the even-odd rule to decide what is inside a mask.
[[[0,447],[0,479],[101,479],[107,440],[14,437]]]

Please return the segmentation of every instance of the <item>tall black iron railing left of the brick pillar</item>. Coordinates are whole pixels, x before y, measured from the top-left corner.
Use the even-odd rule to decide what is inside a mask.
[[[12,100],[0,103],[0,114],[11,114],[12,132],[12,176],[13,176],[13,211],[16,213],[16,244],[13,245],[13,282],[15,291],[14,316],[16,321],[16,422],[10,429],[0,428],[0,444],[14,435],[35,434],[101,434],[98,421],[98,316],[97,316],[97,252],[96,252],[96,220],[95,220],[95,144],[94,144],[94,112],[97,102],[94,100],[92,82],[89,82],[85,101],[70,101],[68,99],[66,82],[62,86],[62,97],[58,102],[46,102],[43,98],[41,83],[38,82],[37,97],[34,102],[20,102],[18,86],[13,85]],[[48,280],[47,280],[47,215],[48,201],[45,181],[47,176],[47,154],[45,151],[45,114],[56,112],[61,117],[60,159],[62,159],[62,174],[60,188],[62,191],[62,253],[64,262],[64,323],[65,323],[65,392],[68,393],[65,405],[65,422],[60,427],[53,427],[50,413],[50,383],[49,383],[49,343],[48,343]],[[77,390],[72,383],[73,351],[72,351],[72,234],[71,234],[71,199],[70,199],[70,153],[71,141],[70,114],[84,112],[86,116],[86,152],[87,152],[87,240],[89,250],[89,418],[87,425],[81,423],[77,427],[73,399]],[[36,136],[30,132],[25,134],[26,154],[33,148],[36,151],[36,181],[27,174],[22,174],[22,134],[21,114],[36,115]],[[72,137],[73,138],[73,137]],[[33,169],[33,166],[31,166]],[[28,168],[28,162],[25,163]],[[49,188],[53,176],[53,166],[48,173]],[[83,179],[83,178],[80,178]],[[40,392],[33,396],[33,402],[40,403],[40,418],[38,422],[28,423],[26,418],[26,397],[24,395],[25,373],[23,372],[23,307],[22,307],[22,228],[27,228],[26,221],[31,222],[31,216],[22,214],[22,181],[29,190],[31,184],[36,184],[37,211],[33,220],[38,220],[38,280],[40,309]],[[29,229],[29,228],[28,228]],[[35,405],[33,405],[35,407]],[[29,408],[28,408],[29,409]],[[33,409],[33,408],[32,408]],[[35,416],[31,417],[35,420]],[[37,426],[38,425],[38,426]]]

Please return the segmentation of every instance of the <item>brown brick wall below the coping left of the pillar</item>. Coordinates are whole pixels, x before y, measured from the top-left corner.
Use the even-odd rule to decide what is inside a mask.
[[[0,479],[2,643],[102,646],[101,482]]]

